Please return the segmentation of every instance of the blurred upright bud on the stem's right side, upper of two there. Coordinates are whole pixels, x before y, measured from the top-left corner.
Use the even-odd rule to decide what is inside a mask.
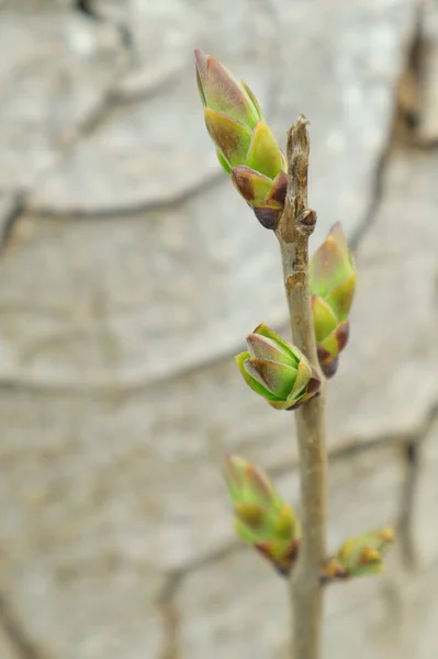
[[[321,368],[336,373],[339,353],[348,340],[348,314],[356,286],[356,268],[342,227],[335,224],[308,265],[311,304]]]

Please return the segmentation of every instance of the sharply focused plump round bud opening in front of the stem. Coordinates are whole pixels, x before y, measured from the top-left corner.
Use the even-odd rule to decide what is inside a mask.
[[[259,325],[236,356],[244,380],[276,410],[295,410],[319,391],[321,380],[304,355],[276,332]]]

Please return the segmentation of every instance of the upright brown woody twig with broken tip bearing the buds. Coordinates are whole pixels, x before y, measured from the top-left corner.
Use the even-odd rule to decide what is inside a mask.
[[[316,213],[307,208],[310,141],[301,115],[288,136],[288,192],[276,230],[283,264],[284,288],[294,345],[321,373],[308,294],[308,238]],[[326,558],[326,447],[324,378],[319,398],[295,412],[301,480],[302,540],[291,579],[292,657],[318,659],[323,591],[321,567]]]

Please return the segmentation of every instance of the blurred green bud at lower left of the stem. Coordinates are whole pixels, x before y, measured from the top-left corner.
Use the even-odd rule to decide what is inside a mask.
[[[224,477],[238,535],[289,574],[296,557],[299,522],[268,477],[237,456],[225,461]]]

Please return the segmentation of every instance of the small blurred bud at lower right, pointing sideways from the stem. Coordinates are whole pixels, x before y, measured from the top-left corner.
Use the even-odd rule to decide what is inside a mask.
[[[393,529],[383,528],[347,540],[325,565],[323,582],[379,574],[384,569],[383,557],[394,539]]]

